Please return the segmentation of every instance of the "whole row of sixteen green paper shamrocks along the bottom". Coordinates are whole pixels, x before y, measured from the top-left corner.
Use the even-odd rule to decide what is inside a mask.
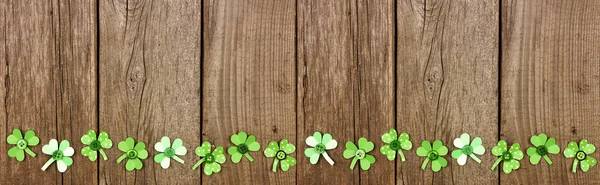
[[[387,133],[384,133],[381,139],[385,145],[379,151],[388,160],[395,160],[396,155],[399,155],[402,161],[406,161],[402,150],[411,150],[413,146],[407,133],[398,135],[395,129],[391,129]],[[17,161],[23,161],[25,153],[32,157],[36,156],[29,147],[37,146],[40,139],[35,135],[33,130],[28,130],[23,136],[21,130],[14,129],[12,135],[8,136],[6,141],[9,144],[15,145],[8,150],[8,156],[16,158]],[[260,150],[260,144],[256,142],[256,136],[247,135],[245,132],[233,134],[230,137],[230,141],[234,146],[227,148],[227,153],[231,156],[233,163],[239,163],[242,158],[253,162],[254,158],[249,152]],[[552,164],[549,155],[560,152],[560,147],[556,144],[556,139],[552,137],[548,138],[546,134],[534,135],[530,141],[533,147],[528,148],[526,153],[529,156],[530,163],[533,165],[538,164],[542,158],[548,164]],[[87,134],[81,137],[81,142],[87,145],[81,149],[81,154],[88,157],[90,161],[95,161],[98,158],[98,153],[102,155],[104,160],[108,160],[103,149],[112,148],[113,143],[106,132],[101,132],[96,136],[93,130],[89,130]],[[334,165],[334,161],[327,154],[327,150],[335,149],[338,143],[333,139],[331,134],[326,133],[323,135],[320,132],[315,132],[312,136],[306,138],[306,144],[310,147],[304,151],[304,155],[309,158],[311,164],[316,164],[319,158],[323,156],[329,164]],[[471,140],[469,134],[464,133],[459,138],[456,138],[453,144],[458,149],[452,151],[451,156],[457,160],[459,165],[465,165],[468,158],[473,159],[477,163],[481,162],[477,155],[483,155],[485,148],[482,145],[480,137],[475,137]],[[200,157],[200,160],[192,166],[193,170],[204,163],[203,172],[206,175],[221,171],[221,164],[226,161],[224,149],[220,146],[214,150],[212,148],[213,146],[210,142],[204,142],[196,148],[195,153]],[[350,164],[351,169],[354,169],[356,163],[359,163],[361,169],[368,170],[376,161],[375,157],[369,154],[374,148],[375,145],[373,142],[361,137],[358,139],[358,145],[350,141],[346,142],[346,150],[344,150],[343,157],[345,159],[352,159]],[[123,155],[117,159],[117,163],[121,163],[127,159],[125,168],[128,171],[142,169],[142,160],[148,157],[148,151],[144,142],[136,143],[133,138],[128,137],[125,141],[119,142],[118,149],[123,152]],[[181,164],[185,163],[183,159],[178,157],[187,154],[187,149],[183,146],[183,141],[179,138],[173,140],[171,143],[171,139],[164,136],[160,142],[154,145],[154,149],[159,152],[158,155],[154,156],[154,161],[159,163],[162,168],[169,168],[171,159]],[[296,164],[296,159],[291,156],[295,150],[296,147],[293,144],[289,143],[286,139],[282,139],[279,143],[275,141],[269,142],[269,145],[264,150],[264,155],[274,158],[273,172],[277,171],[278,165],[281,170],[288,171],[290,167]],[[576,172],[578,165],[580,165],[582,171],[587,172],[590,167],[595,166],[597,163],[595,158],[589,156],[595,150],[596,147],[593,144],[588,143],[586,139],[582,139],[579,144],[570,142],[563,154],[567,158],[575,158],[572,166],[573,172]],[[48,144],[42,147],[42,152],[51,156],[48,162],[42,166],[42,170],[46,170],[52,163],[56,162],[58,171],[65,172],[67,167],[73,164],[71,157],[75,151],[67,140],[63,140],[59,144],[56,139],[51,139]],[[424,140],[416,150],[417,156],[425,158],[421,169],[424,170],[428,163],[431,162],[431,169],[434,172],[438,172],[448,165],[448,161],[444,158],[448,152],[448,148],[440,140],[435,140],[433,143]],[[524,157],[519,143],[514,143],[509,148],[504,140],[500,140],[492,148],[492,154],[497,156],[498,159],[492,165],[491,169],[494,170],[500,162],[503,162],[502,170],[505,173],[519,169],[521,166],[519,161]]]

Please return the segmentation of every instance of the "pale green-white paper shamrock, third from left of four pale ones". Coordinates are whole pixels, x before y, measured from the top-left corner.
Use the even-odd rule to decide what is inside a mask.
[[[315,132],[312,136],[306,138],[306,144],[314,148],[306,148],[304,155],[310,158],[311,164],[317,164],[319,158],[323,155],[323,158],[330,164],[333,165],[333,160],[327,155],[327,150],[331,150],[337,147],[337,141],[333,139],[331,134],[326,133],[321,135],[321,132]]]

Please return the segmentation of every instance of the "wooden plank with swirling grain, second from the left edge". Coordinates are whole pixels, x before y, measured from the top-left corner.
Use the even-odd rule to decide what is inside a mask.
[[[191,166],[200,145],[201,2],[100,2],[100,130],[110,133],[110,161],[100,162],[101,184],[200,182]],[[154,144],[179,137],[185,164],[168,170],[154,162]],[[116,146],[126,137],[144,142],[149,157],[127,172]]]

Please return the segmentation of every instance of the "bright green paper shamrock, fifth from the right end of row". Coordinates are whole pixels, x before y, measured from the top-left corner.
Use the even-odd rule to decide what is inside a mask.
[[[424,140],[421,142],[421,147],[417,148],[417,155],[425,157],[425,161],[421,165],[422,170],[425,170],[429,161],[431,161],[431,170],[434,172],[448,166],[448,161],[444,158],[446,154],[448,154],[448,148],[440,140],[435,140],[433,146],[429,141]]]

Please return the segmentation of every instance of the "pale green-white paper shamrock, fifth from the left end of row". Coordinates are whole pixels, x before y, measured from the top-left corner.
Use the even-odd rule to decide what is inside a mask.
[[[183,164],[185,161],[183,159],[177,157],[178,155],[187,154],[187,149],[183,146],[183,141],[179,138],[173,141],[173,145],[171,145],[171,139],[167,136],[164,136],[160,139],[160,142],[154,144],[154,149],[158,152],[161,152],[158,155],[154,156],[154,162],[160,163],[160,166],[163,169],[169,168],[171,165],[171,159]]]

